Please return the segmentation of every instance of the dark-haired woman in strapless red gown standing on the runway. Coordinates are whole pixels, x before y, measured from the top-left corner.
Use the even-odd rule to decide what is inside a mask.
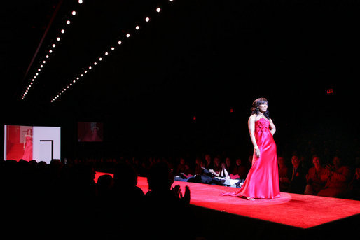
[[[269,118],[268,100],[265,98],[254,101],[248,127],[254,145],[251,169],[240,190],[222,195],[246,197],[249,200],[280,197],[276,144],[272,138],[275,125]]]

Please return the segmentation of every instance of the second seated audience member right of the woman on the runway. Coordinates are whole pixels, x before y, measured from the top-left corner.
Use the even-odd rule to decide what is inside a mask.
[[[300,164],[300,159],[297,155],[293,155],[293,157],[291,157],[291,164],[293,164],[293,169],[291,174],[289,192],[304,193],[305,173],[302,165]]]

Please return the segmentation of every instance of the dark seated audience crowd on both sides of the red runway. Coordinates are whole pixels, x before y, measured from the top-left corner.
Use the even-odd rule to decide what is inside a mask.
[[[281,191],[359,200],[359,153],[338,157],[340,151],[326,149],[315,154],[316,148],[309,146],[279,154]],[[194,239],[198,232],[189,207],[191,189],[181,191],[174,179],[223,185],[212,173],[225,169],[230,179],[243,181],[251,162],[242,159],[251,159],[251,155],[184,156],[75,158],[50,164],[1,161],[4,234],[14,238],[56,233],[60,238],[82,239]],[[95,171],[113,177],[105,174],[95,183]],[[138,176],[148,179],[148,192],[137,187]],[[186,236],[178,234],[174,223],[187,223]]]

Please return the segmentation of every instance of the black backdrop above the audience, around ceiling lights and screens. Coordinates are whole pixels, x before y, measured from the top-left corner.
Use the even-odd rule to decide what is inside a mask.
[[[4,124],[62,127],[62,157],[246,157],[258,97],[269,101],[278,153],[308,142],[347,157],[359,150],[358,1],[63,1],[27,73],[58,3],[9,1],[1,9],[1,104]],[[104,122],[104,142],[77,143],[78,121]]]

